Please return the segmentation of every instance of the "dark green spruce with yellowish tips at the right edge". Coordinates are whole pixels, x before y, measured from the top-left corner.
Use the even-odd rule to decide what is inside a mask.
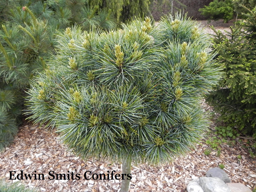
[[[242,30],[230,27],[227,35],[215,31],[214,49],[226,77],[208,96],[208,102],[221,114],[220,120],[242,130],[256,133],[256,51],[255,44]]]

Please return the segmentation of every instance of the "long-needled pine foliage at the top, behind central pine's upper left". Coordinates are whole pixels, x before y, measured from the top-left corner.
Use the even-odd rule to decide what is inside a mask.
[[[78,24],[83,30],[92,27],[112,29],[115,27],[112,11],[107,8],[99,8],[99,5],[90,5],[88,0],[47,0],[36,3],[32,10],[37,10],[38,17],[44,16],[46,10],[52,12],[51,20],[58,28]],[[46,14],[47,15],[47,14]]]

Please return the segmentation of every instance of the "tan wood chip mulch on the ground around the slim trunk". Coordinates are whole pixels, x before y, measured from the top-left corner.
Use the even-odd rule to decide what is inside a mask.
[[[106,173],[115,170],[121,173],[121,165],[108,161],[83,161],[67,151],[67,147],[58,140],[56,133],[47,131],[44,126],[24,125],[16,136],[14,143],[0,154],[0,179],[7,182],[9,171],[16,171],[15,176],[24,173],[43,173],[46,180],[22,180],[31,188],[42,192],[119,192],[121,180],[86,180],[87,170],[93,173]],[[246,139],[244,139],[246,141]],[[132,167],[130,192],[186,192],[186,185],[195,177],[205,176],[206,171],[219,164],[225,165],[225,172],[231,182],[241,182],[251,190],[256,187],[256,160],[246,148],[237,143],[235,146],[223,144],[221,154],[216,151],[209,156],[204,150],[209,147],[204,143],[185,157],[176,158],[169,164],[154,167],[140,165]],[[237,156],[241,155],[242,159]],[[67,174],[68,171],[80,173],[80,180],[48,180],[48,172]],[[13,172],[12,172],[13,173]],[[52,177],[51,177],[52,178]]]

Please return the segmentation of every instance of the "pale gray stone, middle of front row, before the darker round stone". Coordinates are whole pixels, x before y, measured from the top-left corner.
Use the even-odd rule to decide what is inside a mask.
[[[231,192],[228,186],[218,177],[200,177],[199,184],[204,192]]]

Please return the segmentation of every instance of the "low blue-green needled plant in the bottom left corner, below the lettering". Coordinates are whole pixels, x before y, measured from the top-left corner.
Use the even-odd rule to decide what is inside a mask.
[[[39,192],[39,190],[26,188],[20,182],[10,184],[0,180],[0,192]]]

